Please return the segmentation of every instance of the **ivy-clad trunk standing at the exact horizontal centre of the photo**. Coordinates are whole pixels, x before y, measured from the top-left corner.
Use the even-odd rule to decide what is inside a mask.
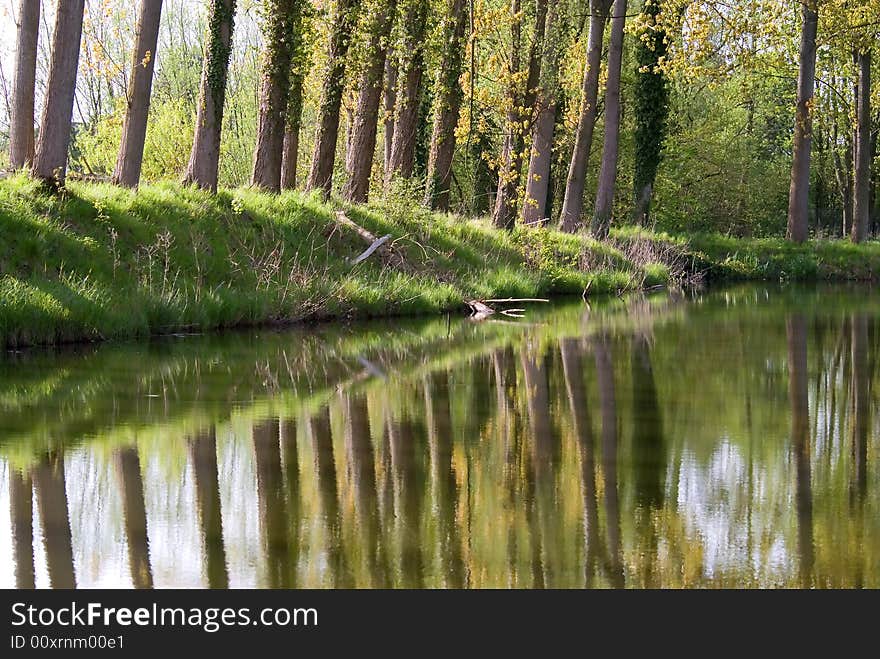
[[[449,0],[449,12],[443,31],[443,59],[437,73],[434,129],[431,133],[425,189],[425,205],[433,210],[449,210],[455,128],[464,97],[459,78],[464,66],[462,42],[467,16],[465,0]]]

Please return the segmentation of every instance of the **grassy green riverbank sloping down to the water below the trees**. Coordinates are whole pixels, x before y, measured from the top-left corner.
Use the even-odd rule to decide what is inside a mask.
[[[299,192],[209,195],[173,183],[134,193],[72,182],[53,197],[15,176],[0,181],[0,342],[464,312],[472,299],[597,296],[699,273],[880,272],[874,244],[701,240],[621,229],[599,243],[529,227],[507,233],[400,199],[348,207]]]

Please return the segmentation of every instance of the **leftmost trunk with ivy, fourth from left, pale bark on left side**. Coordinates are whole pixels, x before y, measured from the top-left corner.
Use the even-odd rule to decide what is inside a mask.
[[[211,0],[208,14],[208,40],[199,84],[199,106],[193,147],[183,175],[187,185],[217,191],[220,166],[220,131],[223,126],[223,102],[229,55],[232,53],[232,24],[235,0]]]

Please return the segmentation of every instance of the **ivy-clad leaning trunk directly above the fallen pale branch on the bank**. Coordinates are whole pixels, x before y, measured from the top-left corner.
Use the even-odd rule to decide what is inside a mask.
[[[376,151],[382,79],[388,66],[388,39],[397,9],[397,0],[377,0],[377,2],[378,9],[371,14],[368,27],[370,42],[367,45],[367,63],[358,85],[354,128],[346,157],[348,181],[342,192],[346,200],[358,204],[366,203],[370,192],[370,172],[373,166],[373,154]],[[391,108],[393,110],[393,103]],[[386,135],[386,142],[388,142],[387,137]],[[388,143],[390,145],[390,142]]]

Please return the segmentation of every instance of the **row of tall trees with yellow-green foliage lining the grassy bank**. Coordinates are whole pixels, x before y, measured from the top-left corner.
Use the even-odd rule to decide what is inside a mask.
[[[40,0],[20,0],[18,12],[10,163],[13,169],[31,163],[35,176],[56,186],[63,184],[68,164],[85,4],[57,0],[36,145]],[[140,180],[155,62],[163,57],[157,52],[162,9],[162,0],[141,0],[130,47],[112,174],[124,186]],[[787,236],[805,240],[811,212],[818,228],[823,204],[831,203],[822,197],[830,187],[838,190],[842,232],[860,241],[871,226],[880,124],[871,103],[877,0],[809,0],[800,17],[779,0],[645,0],[638,7],[626,0],[592,0],[588,6],[573,0],[262,0],[246,9],[260,12],[262,51],[249,182],[267,190],[300,183],[304,109],[314,96],[312,157],[302,181],[307,190],[329,197],[334,174],[342,174],[336,189],[347,201],[363,203],[371,185],[387,191],[408,181],[420,184],[424,204],[435,210],[452,208],[455,190],[457,208],[490,212],[499,227],[558,218],[565,231],[587,224],[603,238],[615,214],[649,221],[664,145],[667,153],[689,146],[683,124],[694,100],[688,95],[707,87],[718,102],[712,90],[735,80],[739,98],[724,101],[745,108],[740,133],[746,135],[740,139],[756,145],[743,161],[757,162],[764,155],[759,151],[775,142],[770,148],[782,154],[774,160],[791,163]],[[231,57],[235,17],[235,0],[209,3],[183,172],[185,182],[208,190],[219,182],[230,62],[241,66]],[[106,38],[94,41],[109,52]],[[841,54],[851,60],[846,66]],[[838,70],[837,77],[817,78],[817,60],[820,74],[828,66]],[[778,91],[767,89],[766,80],[793,82],[795,67],[796,95],[793,88],[783,92],[791,95],[791,106],[756,109],[767,99],[758,100],[760,93]],[[691,106],[682,107],[683,100]],[[878,104],[873,107],[876,113]],[[706,117],[716,109],[711,103],[698,108]],[[755,127],[757,120],[769,124],[780,116],[792,118],[775,137]],[[834,156],[831,184],[823,167],[811,167],[814,123],[821,124]],[[700,156],[723,160],[726,154]],[[702,166],[693,160],[688,165]],[[736,187],[727,172],[720,175],[728,180],[712,191],[717,196]],[[743,172],[741,183],[745,177]],[[621,192],[622,178],[631,180],[631,192]],[[754,178],[758,183],[762,177]],[[818,184],[812,193],[811,179]],[[747,205],[737,204],[736,212],[747,213]]]

